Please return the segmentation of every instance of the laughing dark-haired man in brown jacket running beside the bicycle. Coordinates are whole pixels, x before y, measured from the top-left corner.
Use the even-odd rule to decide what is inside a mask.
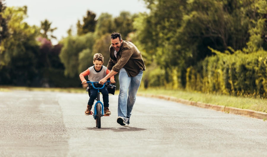
[[[146,67],[137,47],[129,41],[122,40],[120,33],[113,32],[110,41],[110,59],[107,65],[110,73],[99,83],[104,84],[108,78],[119,73],[120,94],[117,123],[128,126],[143,71]]]

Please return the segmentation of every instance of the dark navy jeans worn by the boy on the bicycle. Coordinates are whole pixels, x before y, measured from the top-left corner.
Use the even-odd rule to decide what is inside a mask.
[[[107,90],[107,86],[105,86],[103,89],[99,89],[99,92],[102,93],[104,107],[109,107],[109,92]],[[88,105],[93,105],[94,101],[96,100],[96,97],[97,97],[97,89],[91,88]]]

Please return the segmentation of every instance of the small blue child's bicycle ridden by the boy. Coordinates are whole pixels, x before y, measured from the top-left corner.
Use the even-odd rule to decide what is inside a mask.
[[[107,82],[110,82],[110,81],[107,81]],[[94,112],[90,111],[89,115],[93,115],[94,119],[96,120],[96,127],[101,128],[101,117],[102,116],[109,116],[109,115],[104,114],[104,105],[100,101],[100,92],[99,92],[99,89],[103,89],[106,86],[106,83],[101,88],[99,88],[99,87],[96,88],[94,86],[94,83],[98,83],[98,82],[87,81],[87,83],[91,83],[92,87],[94,89],[97,89],[97,98],[96,98],[97,102],[94,106]]]

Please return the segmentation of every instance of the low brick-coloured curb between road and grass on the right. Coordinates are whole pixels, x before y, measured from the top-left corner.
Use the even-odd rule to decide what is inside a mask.
[[[238,115],[243,115],[243,116],[249,116],[253,118],[267,119],[267,113],[264,113],[264,112],[258,112],[258,111],[241,109],[241,108],[233,108],[233,107],[222,106],[222,105],[213,105],[213,104],[203,103],[203,102],[195,102],[195,101],[185,100],[185,99],[176,98],[176,97],[169,97],[166,95],[153,95],[153,94],[137,94],[137,95],[144,96],[144,97],[155,97],[155,98],[160,98],[164,100],[179,102],[179,103],[186,104],[186,105],[193,105],[193,106],[198,106],[201,108],[208,108],[212,110],[222,111],[226,113],[233,113],[233,114],[238,114]]]

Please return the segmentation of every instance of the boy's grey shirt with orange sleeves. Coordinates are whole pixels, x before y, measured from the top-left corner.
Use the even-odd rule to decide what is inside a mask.
[[[88,76],[88,79],[90,81],[92,81],[92,82],[98,82],[102,78],[104,78],[105,76],[107,76],[107,74],[109,74],[109,70],[104,65],[102,65],[100,71],[96,71],[94,69],[94,66],[91,66],[86,71],[80,73],[80,79],[81,79],[81,81],[86,81],[86,79],[84,78],[84,76]],[[114,80],[114,76],[112,76],[110,79],[113,79]]]

